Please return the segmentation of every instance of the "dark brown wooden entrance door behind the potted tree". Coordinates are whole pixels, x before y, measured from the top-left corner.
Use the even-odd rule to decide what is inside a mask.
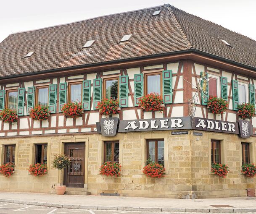
[[[65,154],[70,157],[71,164],[64,170],[64,185],[84,187],[84,143],[65,144]]]

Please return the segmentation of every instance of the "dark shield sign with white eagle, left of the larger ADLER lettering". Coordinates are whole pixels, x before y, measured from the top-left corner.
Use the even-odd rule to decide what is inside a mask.
[[[119,123],[118,117],[107,117],[100,119],[100,130],[103,136],[115,136]]]

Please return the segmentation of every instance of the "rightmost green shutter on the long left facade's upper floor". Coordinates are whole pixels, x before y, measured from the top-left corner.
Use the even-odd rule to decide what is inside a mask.
[[[172,103],[172,70],[163,70],[164,103]]]

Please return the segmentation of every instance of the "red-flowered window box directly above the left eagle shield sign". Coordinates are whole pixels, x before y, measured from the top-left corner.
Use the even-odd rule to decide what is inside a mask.
[[[120,113],[119,101],[117,99],[102,99],[101,102],[98,103],[96,107],[101,115],[116,115]]]

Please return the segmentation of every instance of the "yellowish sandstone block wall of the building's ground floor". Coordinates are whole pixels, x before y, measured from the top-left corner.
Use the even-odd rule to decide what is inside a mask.
[[[60,182],[60,173],[51,167],[53,155],[64,151],[64,144],[85,143],[85,187],[91,194],[120,193],[121,196],[165,198],[215,198],[246,196],[246,188],[256,188],[256,178],[241,174],[241,142],[251,143],[251,162],[256,162],[256,139],[238,135],[203,131],[203,136],[172,135],[171,131],[118,133],[114,137],[100,134],[6,138],[1,140],[1,163],[5,144],[16,144],[15,174],[0,175],[0,191],[52,192],[51,185]],[[164,178],[148,178],[142,170],[146,163],[146,139],[164,139]],[[221,140],[222,163],[230,167],[226,178],[211,175],[211,139]],[[119,140],[120,177],[99,174],[103,163],[103,142]],[[34,177],[28,172],[34,160],[34,147],[48,144],[48,174]]]

